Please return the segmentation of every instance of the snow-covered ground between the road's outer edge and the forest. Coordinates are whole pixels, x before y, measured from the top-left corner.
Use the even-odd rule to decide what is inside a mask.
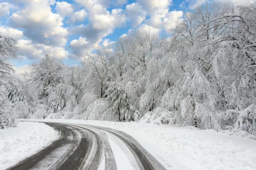
[[[256,169],[256,140],[214,130],[138,122],[63,119],[37,121],[82,123],[118,129],[135,137],[157,160],[168,160],[171,166],[182,164],[184,169]],[[159,151],[162,152],[161,156],[157,153]],[[161,158],[163,153],[168,158]]]

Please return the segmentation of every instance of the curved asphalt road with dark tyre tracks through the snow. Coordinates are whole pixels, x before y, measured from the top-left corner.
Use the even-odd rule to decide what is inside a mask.
[[[110,128],[46,123],[59,138],[8,170],[165,170],[132,136]]]

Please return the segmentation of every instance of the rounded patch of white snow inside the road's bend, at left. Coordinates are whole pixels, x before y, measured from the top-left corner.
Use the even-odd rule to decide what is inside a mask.
[[[45,123],[20,122],[0,129],[0,169],[6,169],[56,140],[59,133]]]

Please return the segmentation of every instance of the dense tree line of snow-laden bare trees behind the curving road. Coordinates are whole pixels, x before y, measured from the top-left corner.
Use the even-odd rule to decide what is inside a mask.
[[[255,134],[255,3],[197,6],[169,31],[165,37],[136,30],[120,37],[113,50],[86,54],[77,66],[46,55],[31,64],[25,81],[5,86],[16,117],[142,121]]]

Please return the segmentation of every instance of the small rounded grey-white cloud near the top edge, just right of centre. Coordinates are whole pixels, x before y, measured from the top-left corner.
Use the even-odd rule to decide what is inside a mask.
[[[147,12],[144,11],[138,3],[132,3],[125,7],[124,13],[127,16],[128,21],[131,21],[131,26],[135,28],[142,21],[145,20]]]

